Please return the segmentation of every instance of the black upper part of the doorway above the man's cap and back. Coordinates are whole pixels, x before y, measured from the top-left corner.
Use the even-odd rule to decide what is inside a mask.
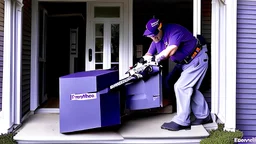
[[[143,37],[149,19],[159,18],[164,24],[177,23],[193,32],[193,0],[135,0],[133,4],[133,41],[143,45],[143,53],[151,39]]]

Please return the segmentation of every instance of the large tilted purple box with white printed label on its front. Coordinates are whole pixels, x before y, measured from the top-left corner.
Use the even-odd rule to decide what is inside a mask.
[[[117,70],[93,70],[60,77],[60,132],[120,124],[120,94],[108,88],[118,80]]]

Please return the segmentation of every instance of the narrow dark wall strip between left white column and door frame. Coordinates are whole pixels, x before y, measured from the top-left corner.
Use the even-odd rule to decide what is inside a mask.
[[[22,116],[30,110],[31,0],[23,0],[22,26]]]

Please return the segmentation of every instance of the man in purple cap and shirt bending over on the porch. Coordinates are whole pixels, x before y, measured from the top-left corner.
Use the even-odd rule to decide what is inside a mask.
[[[178,24],[162,25],[159,19],[151,19],[143,34],[153,41],[145,56],[156,62],[170,59],[177,63],[182,72],[174,85],[177,102],[177,115],[161,128],[177,131],[190,129],[191,125],[212,122],[211,114],[203,94],[199,91],[208,68],[206,45],[193,36],[185,27]],[[157,55],[155,55],[158,53]],[[190,122],[191,111],[196,119]]]

